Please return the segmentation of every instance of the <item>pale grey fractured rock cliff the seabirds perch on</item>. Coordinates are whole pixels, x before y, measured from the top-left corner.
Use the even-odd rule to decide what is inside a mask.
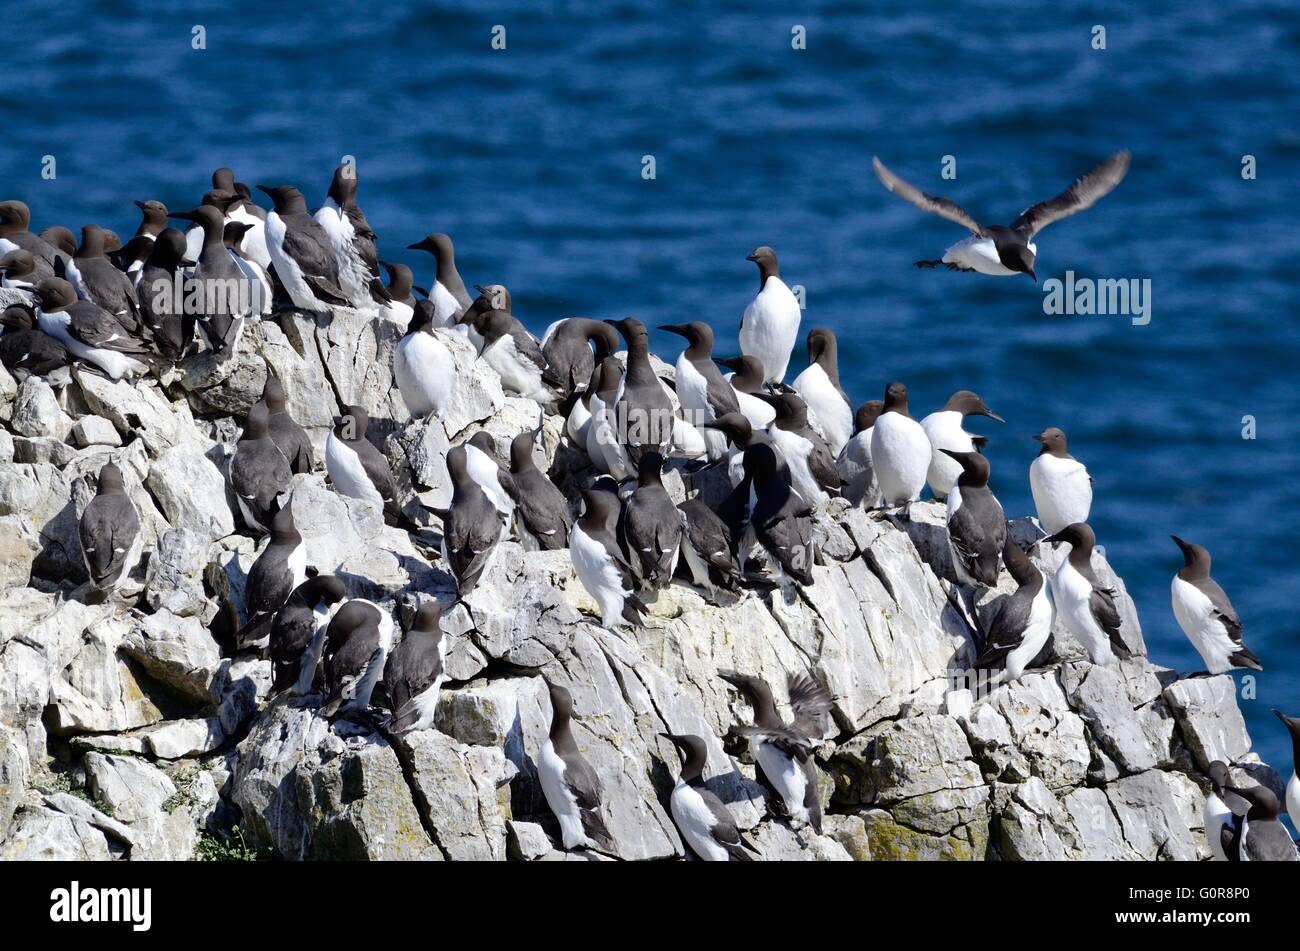
[[[135,382],[0,369],[0,856],[592,857],[559,850],[537,781],[543,677],[573,694],[623,859],[684,854],[667,812],[679,759],[663,731],[708,741],[708,785],[767,859],[1202,859],[1209,761],[1275,785],[1249,752],[1230,677],[1179,678],[1144,656],[1095,666],[1057,630],[1020,682],[966,689],[970,620],[931,503],[880,517],[837,501],[820,520],[815,585],[723,603],[673,585],[621,635],[595,624],[567,552],[507,542],[445,618],[451,681],[437,730],[390,742],[303,702],[268,704],[269,661],[233,644],[257,543],[237,530],[225,477],[266,374],[320,444],[341,404],[364,405],[402,492],[432,505],[450,498],[450,444],[482,429],[504,459],[537,425],[538,407],[504,395],[467,346],[445,424],[412,422],[390,372],[400,334],[338,309],[256,323],[225,364],[198,356]],[[571,487],[581,459],[560,422],[546,417],[541,451]],[[109,460],[147,556],[129,598],[95,604],[75,526]],[[679,498],[710,491],[696,483],[668,479]],[[295,477],[292,507],[309,564],[351,595],[403,622],[420,599],[452,598],[436,520],[416,534],[387,527],[322,473]],[[1041,534],[1013,527],[1024,542]],[[1054,568],[1052,551],[1035,557]],[[1123,583],[1095,557],[1121,591],[1124,640],[1140,646]],[[774,683],[807,670],[833,695],[816,755],[824,834],[768,816],[751,765],[724,750],[719,737],[749,708],[719,668]]]

